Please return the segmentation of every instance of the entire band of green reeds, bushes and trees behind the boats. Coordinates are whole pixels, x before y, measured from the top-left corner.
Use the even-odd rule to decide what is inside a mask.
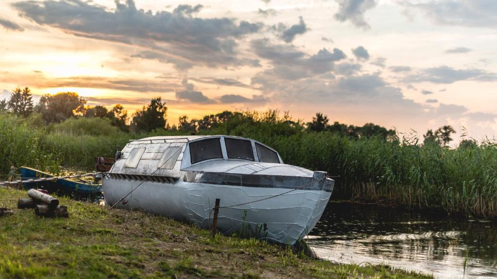
[[[92,169],[96,156],[112,157],[116,146],[129,139],[235,135],[272,146],[285,163],[327,171],[335,177],[333,199],[497,217],[497,143],[464,138],[459,146],[448,147],[454,133],[450,126],[429,130],[422,143],[416,135],[395,134],[372,123],[330,125],[320,113],[304,124],[277,111],[226,111],[191,121],[183,116],[169,128],[166,104],[156,98],[134,114],[130,129],[120,105],[110,111],[82,107],[85,101],[75,93],[46,95],[40,103],[39,113],[29,117],[16,117],[13,111],[0,116],[3,175],[21,165]],[[61,103],[73,104],[73,110],[58,116],[52,105]],[[47,119],[54,121],[46,126]]]

